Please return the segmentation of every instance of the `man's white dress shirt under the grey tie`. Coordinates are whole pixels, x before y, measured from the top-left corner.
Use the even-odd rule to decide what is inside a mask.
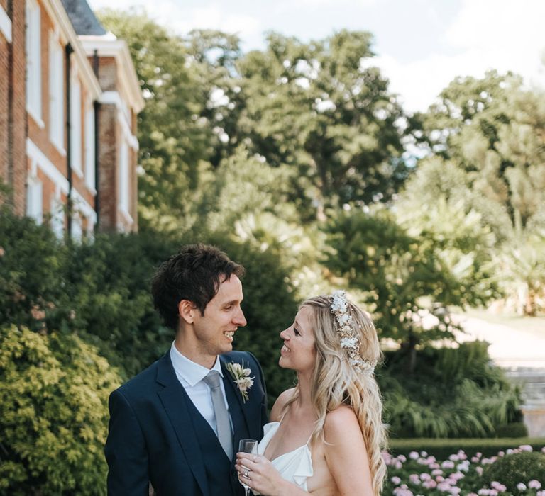
[[[224,373],[221,371],[219,359],[216,358],[216,363],[209,369],[189,360],[186,356],[183,356],[180,351],[177,350],[174,342],[170,346],[170,360],[176,373],[176,377],[180,384],[184,386],[185,392],[192,400],[193,405],[197,407],[199,413],[210,424],[210,427],[214,429],[216,436],[218,435],[218,429],[216,427],[216,417],[214,415],[214,405],[212,405],[212,397],[210,393],[210,387],[203,379],[212,371],[218,371],[219,375],[223,378]],[[229,404],[225,395],[224,381],[219,381],[219,387],[221,393],[224,396],[224,402],[229,412]],[[229,414],[231,419],[231,414]],[[231,422],[231,430],[233,429],[233,422]]]

